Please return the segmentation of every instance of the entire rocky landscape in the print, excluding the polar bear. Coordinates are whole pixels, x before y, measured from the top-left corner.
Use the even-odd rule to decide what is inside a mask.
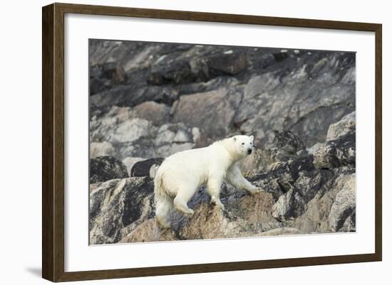
[[[356,229],[355,53],[90,41],[90,242],[148,242]],[[256,195],[204,188],[154,220],[153,176],[177,151],[253,134]]]

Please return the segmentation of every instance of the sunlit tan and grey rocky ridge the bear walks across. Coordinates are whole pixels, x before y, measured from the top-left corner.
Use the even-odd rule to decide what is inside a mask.
[[[118,171],[119,178],[91,183],[91,244],[355,231],[355,113],[331,124],[327,137],[306,149],[291,131],[275,132],[272,144],[241,163],[247,179],[264,192],[249,195],[224,183],[222,211],[200,188],[189,203],[195,215],[173,210],[170,230],[155,222],[147,174],[120,178]]]

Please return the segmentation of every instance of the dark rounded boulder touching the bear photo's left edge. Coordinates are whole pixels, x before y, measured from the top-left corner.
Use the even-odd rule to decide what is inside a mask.
[[[90,160],[90,183],[126,177],[128,173],[124,164],[113,156],[98,156]]]

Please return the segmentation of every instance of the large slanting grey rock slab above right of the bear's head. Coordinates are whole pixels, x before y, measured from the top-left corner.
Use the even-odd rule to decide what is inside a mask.
[[[271,141],[265,133],[270,129],[294,131],[306,146],[324,142],[329,125],[355,109],[355,80],[343,79],[351,78],[354,56],[282,54],[283,60],[247,82],[234,124],[245,133],[256,131],[259,147]]]

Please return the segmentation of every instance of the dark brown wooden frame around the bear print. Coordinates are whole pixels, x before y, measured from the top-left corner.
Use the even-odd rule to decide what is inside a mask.
[[[352,254],[330,257],[273,259],[252,262],[225,262],[137,269],[98,271],[64,271],[64,14],[95,14],[164,18],[175,20],[249,23],[269,26],[326,28],[370,31],[376,38],[376,230],[374,254]],[[213,14],[190,11],[134,9],[77,4],[51,4],[42,10],[42,276],[50,281],[109,279],[133,276],[156,276],[212,271],[299,267],[319,264],[374,262],[382,259],[382,134],[381,134],[381,33],[378,23],[321,21],[299,18],[276,18],[234,14]]]

